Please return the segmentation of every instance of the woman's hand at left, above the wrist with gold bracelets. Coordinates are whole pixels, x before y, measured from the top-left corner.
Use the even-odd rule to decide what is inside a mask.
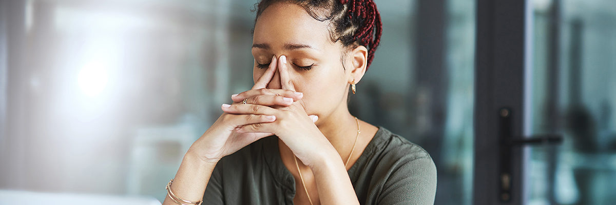
[[[275,62],[277,58],[272,58],[269,68],[257,80],[251,90],[260,90],[262,98],[259,100],[262,105],[291,105],[294,101],[301,99],[302,95],[291,90],[282,89],[265,89],[271,81],[276,71]],[[235,102],[234,104],[242,103]],[[222,107],[229,106],[223,104]],[[206,163],[216,164],[222,157],[235,153],[235,151],[246,147],[256,140],[272,135],[271,133],[261,132],[236,132],[237,127],[246,124],[254,123],[272,123],[275,116],[273,115],[237,115],[230,113],[222,113],[222,115],[209,127],[209,129],[195,141],[188,153],[197,156]],[[187,153],[187,154],[188,154]]]

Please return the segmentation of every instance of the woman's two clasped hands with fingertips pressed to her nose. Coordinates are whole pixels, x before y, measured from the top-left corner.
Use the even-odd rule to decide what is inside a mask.
[[[265,88],[277,71],[282,89]],[[249,123],[235,123],[235,127],[230,127],[246,145],[263,137],[277,135],[302,163],[312,166],[319,153],[315,150],[335,150],[314,124],[318,117],[307,115],[302,97],[303,94],[296,92],[291,81],[285,55],[279,58],[274,56],[252,89],[232,95],[232,105],[223,104],[222,111],[223,115],[252,118],[248,120]]]

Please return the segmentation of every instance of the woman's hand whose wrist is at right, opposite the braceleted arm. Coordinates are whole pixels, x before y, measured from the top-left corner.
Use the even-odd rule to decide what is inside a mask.
[[[276,61],[276,63],[278,63],[278,73],[280,73],[280,84],[282,85],[283,90],[295,91],[285,58],[286,57],[284,55],[281,55],[280,59]],[[272,61],[272,63],[275,62]],[[262,84],[262,82],[257,83]],[[257,88],[258,87],[259,86],[257,86]],[[264,89],[265,86],[262,87],[263,88],[261,89]],[[253,89],[254,88],[255,87],[253,87]],[[272,96],[272,94],[264,93],[265,92],[254,92],[254,90],[248,90],[232,97],[232,99],[234,102],[242,102],[246,98],[255,99],[267,98],[263,95],[269,95],[270,97]],[[259,103],[259,100],[249,100],[249,102]],[[294,155],[298,156],[302,163],[309,167],[313,167],[314,164],[320,159],[328,158],[328,156],[315,155],[315,153],[323,153],[328,155],[331,154],[331,152],[327,150],[335,152],[334,147],[314,124],[317,119],[312,118],[317,117],[314,116],[311,118],[307,115],[302,99],[290,103],[288,106],[275,105],[269,107],[269,105],[259,104],[234,104],[229,108],[223,108],[223,111],[233,114],[264,112],[267,113],[267,115],[275,115],[276,120],[272,123],[256,123],[241,126],[237,132],[266,132],[275,134],[283,142],[285,142],[285,145],[293,151]],[[319,151],[315,152],[315,150]]]

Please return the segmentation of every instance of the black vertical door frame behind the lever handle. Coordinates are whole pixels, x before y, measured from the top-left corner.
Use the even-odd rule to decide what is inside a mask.
[[[511,136],[529,134],[524,79],[532,66],[532,9],[529,0],[477,0],[476,5],[473,204],[522,204],[527,152],[513,147],[514,157],[501,160],[501,109],[509,110]],[[502,174],[501,163],[509,175]]]

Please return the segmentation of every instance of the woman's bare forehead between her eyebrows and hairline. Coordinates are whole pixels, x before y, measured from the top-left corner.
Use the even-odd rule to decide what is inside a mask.
[[[254,26],[253,44],[308,44],[316,49],[333,45],[328,22],[320,22],[296,4],[276,3],[265,9]]]

